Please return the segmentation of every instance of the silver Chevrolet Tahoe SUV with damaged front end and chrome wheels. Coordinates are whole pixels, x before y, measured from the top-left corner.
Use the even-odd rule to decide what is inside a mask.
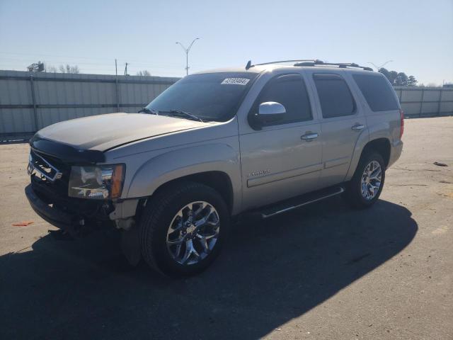
[[[40,130],[25,193],[75,237],[113,225],[130,263],[187,276],[212,263],[231,220],[248,212],[267,218],[342,193],[355,208],[373,205],[402,135],[382,74],[248,62],[184,77],[139,113]]]

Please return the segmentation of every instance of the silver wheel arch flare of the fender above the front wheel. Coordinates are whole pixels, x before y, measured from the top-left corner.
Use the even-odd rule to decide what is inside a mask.
[[[241,204],[241,166],[239,149],[215,143],[183,147],[159,154],[142,164],[127,191],[128,198],[151,196],[159,186],[173,179],[206,171],[222,171],[233,187],[233,213]]]

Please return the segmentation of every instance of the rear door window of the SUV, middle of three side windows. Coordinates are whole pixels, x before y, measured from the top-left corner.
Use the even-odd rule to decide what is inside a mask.
[[[355,113],[355,101],[346,84],[338,74],[314,74],[323,118],[340,117]]]

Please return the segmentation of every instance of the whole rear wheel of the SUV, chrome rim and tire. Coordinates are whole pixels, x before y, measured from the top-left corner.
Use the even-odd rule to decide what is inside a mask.
[[[354,176],[346,188],[346,198],[354,208],[369,208],[381,195],[385,180],[385,165],[381,154],[362,155]]]

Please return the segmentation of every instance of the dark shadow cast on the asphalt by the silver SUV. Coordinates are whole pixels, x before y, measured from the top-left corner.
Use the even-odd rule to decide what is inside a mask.
[[[331,198],[235,225],[217,262],[183,280],[128,266],[114,234],[47,235],[0,257],[0,336],[257,339],[391,259],[417,229],[401,205],[357,211]]]

